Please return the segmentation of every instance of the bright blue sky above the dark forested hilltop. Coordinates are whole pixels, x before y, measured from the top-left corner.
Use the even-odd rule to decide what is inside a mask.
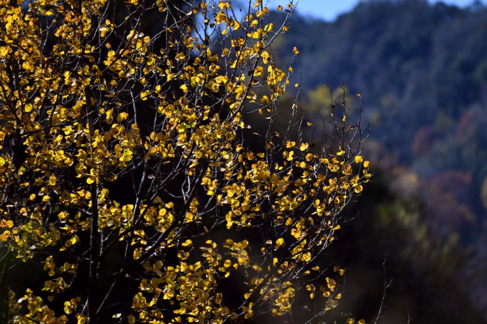
[[[263,0],[262,2],[265,3],[266,1],[268,1],[267,7],[270,9],[275,9],[278,5],[286,6],[289,3],[286,0]],[[431,3],[437,2],[429,1]],[[296,3],[296,0],[294,2]],[[304,15],[331,21],[339,14],[352,10],[358,2],[359,0],[300,0],[297,5],[297,11]],[[444,0],[443,2],[465,7],[471,4],[473,0]],[[482,2],[486,3],[486,0]]]

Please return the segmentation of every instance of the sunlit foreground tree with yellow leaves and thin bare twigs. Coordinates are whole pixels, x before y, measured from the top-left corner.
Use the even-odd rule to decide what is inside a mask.
[[[298,291],[312,323],[336,305],[322,256],[370,177],[367,129],[343,102],[323,146],[303,139],[299,91],[279,105],[278,9],[281,26],[261,0],[0,0],[1,323],[243,323],[289,316]],[[25,264],[39,285],[14,291]]]

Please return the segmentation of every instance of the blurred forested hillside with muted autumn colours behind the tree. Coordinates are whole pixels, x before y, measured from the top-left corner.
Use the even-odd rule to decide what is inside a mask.
[[[336,320],[373,322],[392,279],[377,323],[487,323],[487,8],[379,0],[293,20],[272,50],[281,65],[300,51],[291,84],[317,143],[324,84],[341,102],[344,82],[352,106],[362,93],[372,125],[374,180],[328,254],[347,268]]]

